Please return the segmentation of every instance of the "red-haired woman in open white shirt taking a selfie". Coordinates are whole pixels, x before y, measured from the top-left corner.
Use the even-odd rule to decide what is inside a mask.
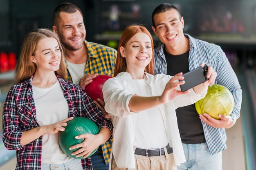
[[[182,73],[153,76],[153,67],[149,31],[128,26],[119,41],[115,77],[103,85],[114,125],[112,170],[175,170],[185,161],[175,109],[203,98],[216,72],[209,67],[209,81],[181,92]]]

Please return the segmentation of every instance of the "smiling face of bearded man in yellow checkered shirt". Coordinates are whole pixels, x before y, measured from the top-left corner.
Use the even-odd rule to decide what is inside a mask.
[[[75,13],[61,12],[58,17],[58,24],[53,30],[61,39],[61,43],[68,50],[79,50],[85,40],[85,26],[83,16],[79,11]]]

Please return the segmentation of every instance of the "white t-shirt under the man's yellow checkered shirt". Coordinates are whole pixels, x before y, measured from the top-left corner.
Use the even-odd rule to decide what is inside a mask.
[[[79,84],[80,79],[84,76],[85,65],[86,63],[73,64],[67,61],[68,71],[70,72],[73,83],[76,85]]]

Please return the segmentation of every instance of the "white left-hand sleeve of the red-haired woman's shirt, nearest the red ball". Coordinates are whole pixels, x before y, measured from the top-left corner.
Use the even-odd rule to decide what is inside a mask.
[[[105,110],[110,116],[127,117],[136,114],[130,111],[129,101],[135,94],[129,93],[126,86],[115,78],[108,79],[102,88]]]

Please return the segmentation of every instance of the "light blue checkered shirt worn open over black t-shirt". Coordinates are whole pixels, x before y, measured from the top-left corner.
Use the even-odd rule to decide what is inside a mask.
[[[191,71],[200,67],[200,63],[202,62],[213,67],[213,70],[217,72],[216,83],[227,87],[234,96],[234,110],[230,116],[234,122],[236,122],[236,119],[240,116],[242,89],[226,54],[222,51],[220,46],[195,39],[187,34],[185,34],[185,36],[189,38],[190,42],[189,70]],[[155,74],[161,73],[167,73],[164,44],[155,49]],[[225,144],[227,139],[225,129],[214,128],[204,123],[202,120],[201,123],[211,155],[225,150],[227,148]]]

